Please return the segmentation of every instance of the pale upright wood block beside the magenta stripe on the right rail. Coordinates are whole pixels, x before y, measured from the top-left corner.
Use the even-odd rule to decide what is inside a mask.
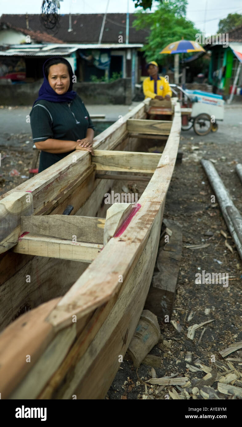
[[[106,245],[111,237],[120,229],[128,216],[132,213],[132,203],[114,203],[107,211],[103,244]]]

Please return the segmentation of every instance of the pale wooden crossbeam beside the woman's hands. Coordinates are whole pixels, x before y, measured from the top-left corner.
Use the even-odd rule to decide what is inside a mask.
[[[92,163],[97,170],[153,173],[160,158],[161,154],[157,153],[94,150]]]

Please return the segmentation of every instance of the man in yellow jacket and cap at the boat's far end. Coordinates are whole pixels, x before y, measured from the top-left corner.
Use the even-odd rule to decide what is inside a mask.
[[[172,91],[167,80],[158,75],[159,68],[157,62],[149,62],[146,68],[149,73],[149,77],[143,81],[143,93],[145,99],[170,99]]]

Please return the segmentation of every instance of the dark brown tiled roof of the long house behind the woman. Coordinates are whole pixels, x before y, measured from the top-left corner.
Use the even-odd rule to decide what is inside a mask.
[[[38,35],[45,33],[52,37],[57,37],[64,43],[98,43],[99,34],[102,26],[104,14],[73,14],[72,29],[69,29],[69,14],[60,15],[60,27],[54,31],[45,29],[39,20],[39,15],[28,14],[28,24],[31,31]],[[132,27],[132,23],[136,15],[129,14],[129,43],[146,42],[146,37],[149,35],[149,29],[136,30]],[[1,15],[0,23],[7,22],[14,27],[18,27],[27,31],[30,35],[30,30],[27,29],[26,15]],[[122,35],[123,43],[125,43],[126,33],[126,14],[125,13],[108,13],[105,20],[105,27],[102,36],[102,43],[118,43],[119,36]],[[44,39],[43,39],[44,40]],[[45,40],[46,41],[46,40]],[[52,41],[52,40],[51,40]]]

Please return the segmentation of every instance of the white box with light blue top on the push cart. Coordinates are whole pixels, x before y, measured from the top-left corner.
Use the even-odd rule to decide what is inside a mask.
[[[189,98],[197,99],[197,102],[192,103],[191,117],[206,113],[209,116],[215,116],[215,120],[224,120],[224,100],[222,95],[188,89],[185,89],[185,92]]]

